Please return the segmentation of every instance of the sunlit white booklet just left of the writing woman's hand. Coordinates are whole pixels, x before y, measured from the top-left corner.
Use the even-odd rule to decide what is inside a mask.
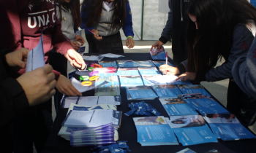
[[[162,77],[162,75],[142,75],[144,85],[167,85],[167,79]]]

